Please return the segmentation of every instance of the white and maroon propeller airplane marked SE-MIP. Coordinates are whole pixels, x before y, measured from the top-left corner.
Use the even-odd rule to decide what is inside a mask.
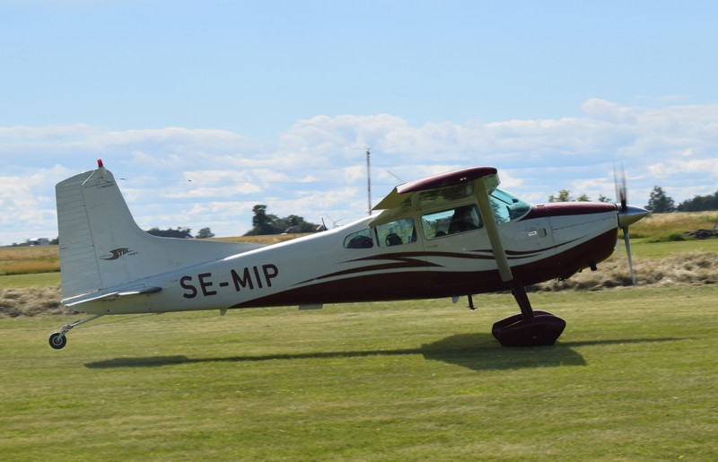
[[[619,204],[531,205],[500,189],[494,167],[470,167],[394,187],[378,214],[263,246],[155,237],[137,226],[102,161],[57,184],[62,304],[92,317],[199,309],[398,301],[512,292],[521,312],[492,327],[503,346],[551,345],[565,320],[533,309],[525,287],[596,270],[648,212]],[[632,263],[629,259],[629,264]]]

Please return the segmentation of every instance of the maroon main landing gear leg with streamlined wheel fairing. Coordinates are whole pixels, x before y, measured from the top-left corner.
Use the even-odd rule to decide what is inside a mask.
[[[547,311],[531,309],[529,296],[521,283],[512,281],[513,298],[521,313],[502,319],[491,329],[503,346],[539,346],[555,344],[566,321]]]

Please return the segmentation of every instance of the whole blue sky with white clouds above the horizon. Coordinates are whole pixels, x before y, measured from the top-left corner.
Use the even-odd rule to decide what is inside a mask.
[[[676,204],[718,190],[711,1],[0,0],[0,245],[57,237],[54,186],[118,179],[136,222],[329,227],[401,182],[499,170]]]

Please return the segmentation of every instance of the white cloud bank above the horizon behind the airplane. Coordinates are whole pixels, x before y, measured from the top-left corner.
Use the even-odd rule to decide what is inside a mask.
[[[412,126],[389,114],[317,116],[297,121],[274,143],[182,127],[0,127],[0,244],[57,235],[55,183],[92,170],[98,158],[121,179],[144,227],[220,226],[233,234],[250,228],[254,204],[280,216],[363,216],[368,146],[374,204],[401,182],[396,177],[470,165],[494,165],[503,187],[536,202],[562,188],[614,196],[614,161],[625,164],[636,205],[656,184],[676,202],[714,192],[718,105],[641,109],[594,99],[582,109],[583,118],[463,125]]]

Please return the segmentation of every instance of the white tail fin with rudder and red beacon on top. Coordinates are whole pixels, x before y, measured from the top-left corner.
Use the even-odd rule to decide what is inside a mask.
[[[64,299],[263,247],[147,234],[101,163],[55,189]]]

